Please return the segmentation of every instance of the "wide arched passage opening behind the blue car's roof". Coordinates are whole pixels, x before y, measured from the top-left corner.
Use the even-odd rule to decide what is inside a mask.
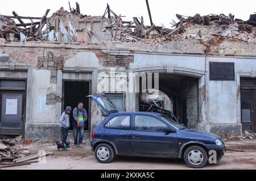
[[[138,75],[139,76],[139,75]],[[172,112],[174,116],[179,120],[181,124],[184,124],[190,128],[197,128],[198,116],[199,116],[199,94],[198,94],[198,81],[199,79],[188,77],[185,75],[169,74],[169,73],[159,73],[159,90],[148,89],[155,87],[154,73],[152,73],[152,79],[147,75],[147,90],[142,90],[142,77],[139,77],[139,94],[137,98],[137,104],[139,102],[139,110],[137,111],[152,111],[160,112],[166,115]],[[138,81],[138,77],[137,77]],[[152,81],[152,86],[148,86],[148,82]],[[160,94],[159,94],[160,93]],[[149,94],[154,97],[154,94],[160,95],[156,96],[156,99],[147,99],[144,101],[145,94]],[[156,104],[162,102],[161,96],[166,96],[166,102],[170,105],[166,108],[159,104],[160,109],[145,107],[146,104],[151,104],[154,107]],[[156,100],[160,100],[159,102]],[[145,104],[146,103],[146,104]],[[157,107],[157,106],[156,106]],[[166,107],[166,106],[165,106]],[[173,117],[172,117],[173,118]],[[174,119],[174,118],[173,118]]]

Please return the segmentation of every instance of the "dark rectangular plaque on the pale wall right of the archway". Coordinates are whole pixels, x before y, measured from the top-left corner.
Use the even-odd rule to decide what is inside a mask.
[[[235,81],[233,62],[210,62],[210,81]]]

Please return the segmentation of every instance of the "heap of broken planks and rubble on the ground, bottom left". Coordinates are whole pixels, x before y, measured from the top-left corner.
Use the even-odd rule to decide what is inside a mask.
[[[18,140],[19,137],[18,137]],[[34,159],[46,157],[47,155],[52,155],[49,153],[38,153],[31,154],[27,148],[22,148],[17,146],[14,140],[2,140],[0,141],[0,169],[6,167],[15,167],[23,165],[31,165],[31,163],[38,163],[38,161],[32,161]],[[16,146],[16,147],[14,147]]]

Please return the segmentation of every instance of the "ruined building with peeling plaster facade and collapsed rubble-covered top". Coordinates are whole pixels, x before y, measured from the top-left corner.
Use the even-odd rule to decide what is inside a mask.
[[[119,111],[149,111],[143,94],[158,91],[163,101],[152,104],[188,127],[256,132],[256,15],[177,15],[168,29],[143,17],[125,21],[109,6],[104,16],[83,15],[79,6],[48,12],[0,15],[1,135],[59,139],[61,112],[84,102],[89,138],[104,115],[87,95],[105,95]],[[104,78],[111,83],[102,88]]]

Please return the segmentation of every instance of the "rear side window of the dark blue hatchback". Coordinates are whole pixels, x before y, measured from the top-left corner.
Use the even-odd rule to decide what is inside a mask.
[[[130,116],[117,116],[105,124],[105,128],[110,129],[130,129]]]

